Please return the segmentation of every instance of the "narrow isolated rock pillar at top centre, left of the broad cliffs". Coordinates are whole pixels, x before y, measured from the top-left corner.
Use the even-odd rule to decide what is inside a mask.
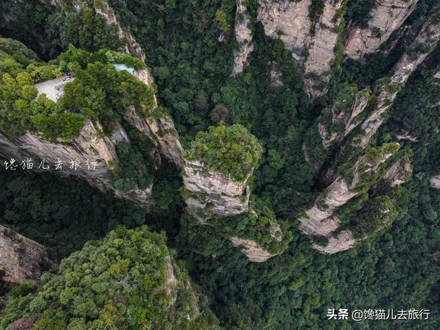
[[[239,43],[239,50],[234,50],[234,67],[231,76],[235,77],[245,68],[248,56],[254,50],[252,31],[249,28],[250,17],[245,0],[236,0],[235,39]]]

